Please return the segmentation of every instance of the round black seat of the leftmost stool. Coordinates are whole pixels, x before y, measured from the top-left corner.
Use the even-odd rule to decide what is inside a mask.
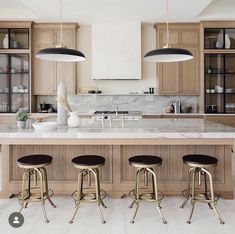
[[[21,157],[17,162],[21,165],[30,166],[30,165],[40,165],[45,163],[51,163],[52,157],[45,154],[33,154]]]

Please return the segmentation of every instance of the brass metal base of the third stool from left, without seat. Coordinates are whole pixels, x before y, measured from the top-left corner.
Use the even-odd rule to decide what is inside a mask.
[[[132,208],[134,204],[136,205],[136,209],[135,209],[133,218],[130,222],[131,223],[135,222],[135,218],[136,218],[136,215],[137,215],[137,212],[138,212],[138,209],[139,209],[139,203],[141,201],[146,201],[146,202],[155,202],[157,204],[157,209],[158,209],[158,212],[160,214],[160,217],[161,217],[163,223],[166,224],[167,221],[166,221],[166,219],[164,218],[164,216],[161,212],[162,207],[160,206],[161,200],[163,199],[164,195],[163,195],[162,192],[158,191],[157,176],[156,176],[156,173],[154,172],[154,169],[153,169],[153,167],[157,167],[157,166],[160,166],[160,165],[158,165],[158,164],[140,165],[140,164],[133,164],[133,163],[130,163],[130,165],[132,165],[134,167],[137,167],[137,171],[136,171],[136,174],[135,174],[135,189],[131,190],[129,192],[129,197],[131,197],[133,199],[133,201],[132,201],[131,205],[129,206],[129,208]],[[144,178],[145,178],[145,180],[144,180],[145,183],[144,184],[148,186],[148,183],[147,183],[148,173],[150,173],[152,175],[152,192],[150,192],[150,193],[147,192],[147,188],[143,189],[143,188],[139,187],[140,175],[141,174],[143,174]]]

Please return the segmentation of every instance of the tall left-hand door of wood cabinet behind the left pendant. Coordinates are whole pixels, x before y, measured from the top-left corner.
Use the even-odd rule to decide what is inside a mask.
[[[35,57],[37,51],[44,47],[36,47],[34,50],[34,95],[53,95],[55,63]]]

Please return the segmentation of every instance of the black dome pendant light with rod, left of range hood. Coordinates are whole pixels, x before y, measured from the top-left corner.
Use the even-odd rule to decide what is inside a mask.
[[[80,62],[86,59],[82,52],[68,49],[63,44],[62,0],[60,0],[60,44],[57,47],[39,50],[36,58],[58,62]]]

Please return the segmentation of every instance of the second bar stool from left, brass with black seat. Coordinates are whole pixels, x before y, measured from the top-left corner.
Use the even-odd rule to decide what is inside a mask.
[[[79,169],[78,173],[78,187],[77,190],[72,193],[72,198],[75,201],[75,212],[69,223],[73,223],[74,218],[77,214],[80,203],[97,203],[98,210],[101,218],[101,222],[105,223],[100,205],[106,208],[103,199],[106,197],[104,190],[100,189],[100,177],[99,177],[99,167],[105,164],[105,158],[98,155],[82,155],[72,159],[72,163],[75,168]],[[85,189],[92,189],[91,186],[91,175],[93,174],[95,179],[95,192],[84,193]],[[88,177],[88,188],[84,188],[83,180]],[[93,189],[94,191],[94,189]]]

